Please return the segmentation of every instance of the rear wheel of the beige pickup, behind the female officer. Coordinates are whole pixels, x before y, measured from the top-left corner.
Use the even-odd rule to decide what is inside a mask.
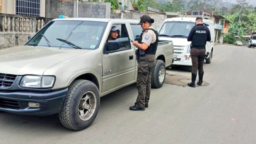
[[[163,86],[165,81],[165,63],[162,60],[156,60],[156,65],[152,70],[151,87],[160,88]]]

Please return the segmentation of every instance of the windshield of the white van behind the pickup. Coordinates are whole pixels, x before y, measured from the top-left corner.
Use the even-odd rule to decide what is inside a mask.
[[[187,38],[195,22],[166,21],[159,30],[159,36]]]

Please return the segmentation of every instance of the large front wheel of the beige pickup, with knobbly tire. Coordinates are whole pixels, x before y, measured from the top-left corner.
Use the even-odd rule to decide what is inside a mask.
[[[68,88],[59,113],[60,122],[68,129],[84,130],[93,123],[99,107],[98,87],[91,81],[76,80]]]

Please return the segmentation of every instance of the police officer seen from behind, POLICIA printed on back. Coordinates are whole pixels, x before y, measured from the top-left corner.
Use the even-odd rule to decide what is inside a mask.
[[[211,41],[211,34],[208,27],[203,24],[201,17],[196,18],[196,26],[194,26],[189,35],[188,42],[191,41],[191,59],[192,59],[192,82],[188,83],[190,87],[196,87],[196,75],[198,69],[199,81],[197,85],[202,85],[204,76],[204,57],[206,42]]]

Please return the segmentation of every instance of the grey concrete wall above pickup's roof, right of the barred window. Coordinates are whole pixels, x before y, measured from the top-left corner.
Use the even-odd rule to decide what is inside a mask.
[[[110,18],[110,3],[79,2],[79,18]],[[46,18],[58,18],[62,13],[70,18],[76,18],[76,1],[46,0]]]

